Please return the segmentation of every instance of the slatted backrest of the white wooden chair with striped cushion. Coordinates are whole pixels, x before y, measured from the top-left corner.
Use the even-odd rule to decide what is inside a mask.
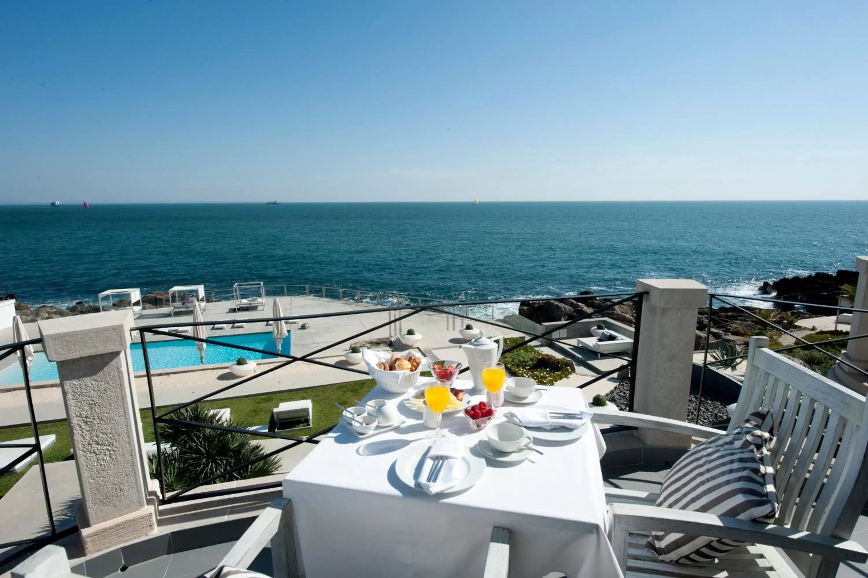
[[[868,444],[865,397],[765,349],[767,344],[765,337],[751,338],[732,427],[752,411],[771,408],[777,438],[772,459],[780,500],[776,523],[849,537],[856,518],[843,516],[850,528],[842,528],[841,521]],[[806,575],[814,574],[817,560],[788,554]]]

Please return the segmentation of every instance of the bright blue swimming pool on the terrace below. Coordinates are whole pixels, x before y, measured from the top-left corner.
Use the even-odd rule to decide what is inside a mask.
[[[277,351],[271,333],[247,333],[238,336],[208,337],[215,341],[228,343],[230,345],[243,345],[245,347],[265,349],[266,351]],[[289,353],[289,343],[290,338],[287,336],[281,343],[280,350],[282,353]],[[133,356],[133,370],[144,371],[145,359],[141,355],[141,344],[133,343],[129,346],[129,349]],[[276,355],[253,353],[253,351],[242,351],[241,349],[233,349],[230,347],[220,347],[220,345],[213,345],[211,343],[209,343],[205,349],[206,363],[231,363],[239,357],[259,360],[269,359],[275,356]],[[199,360],[199,349],[196,349],[196,342],[188,339],[148,342],[148,361],[151,363],[151,369],[186,368],[201,365]],[[49,362],[44,353],[37,352],[34,354],[33,361],[30,362],[30,382],[47,382],[57,379],[56,363]],[[6,369],[0,370],[0,385],[13,385],[23,382],[24,377],[21,373],[21,366],[18,363],[14,363]]]

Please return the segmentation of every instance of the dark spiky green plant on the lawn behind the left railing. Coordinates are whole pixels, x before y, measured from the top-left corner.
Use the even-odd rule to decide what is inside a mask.
[[[220,418],[199,403],[180,409],[171,414],[172,419],[181,422],[207,423],[245,429],[246,424]],[[166,490],[185,488],[203,482],[227,469],[265,455],[263,449],[253,443],[250,435],[226,429],[202,428],[183,423],[161,423],[160,441],[171,444],[162,452],[163,475]],[[152,477],[158,477],[156,455],[148,456],[148,467]],[[231,474],[223,475],[211,483],[247,480],[263,475],[272,475],[280,468],[275,456],[240,468]]]

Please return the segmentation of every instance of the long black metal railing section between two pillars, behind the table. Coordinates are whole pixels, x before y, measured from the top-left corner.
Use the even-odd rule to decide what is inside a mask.
[[[241,468],[247,468],[248,466],[253,465],[256,462],[260,462],[262,460],[266,460],[269,457],[274,455],[278,455],[287,449],[294,448],[299,446],[302,443],[319,443],[319,437],[329,433],[335,426],[331,426],[329,428],[322,429],[312,435],[306,436],[293,436],[293,435],[284,435],[279,434],[277,432],[264,432],[253,429],[239,429],[230,426],[217,425],[211,423],[202,423],[202,422],[188,422],[186,420],[178,420],[174,419],[172,415],[180,411],[181,409],[187,408],[189,406],[194,405],[195,403],[204,402],[209,398],[213,398],[215,395],[223,394],[231,389],[238,388],[245,383],[251,382],[254,379],[259,379],[263,375],[271,374],[275,371],[279,371],[279,369],[284,369],[289,365],[296,362],[306,362],[312,363],[315,365],[319,365],[322,367],[334,368],[334,369],[342,369],[346,372],[357,374],[357,375],[365,375],[368,376],[367,371],[361,369],[355,369],[351,367],[345,367],[343,365],[336,365],[333,363],[323,362],[318,359],[314,359],[314,355],[319,355],[324,353],[329,349],[334,349],[340,345],[343,345],[347,342],[352,342],[354,340],[358,340],[358,338],[371,334],[374,331],[378,331],[379,329],[384,329],[396,323],[402,322],[405,319],[410,318],[411,316],[416,316],[423,312],[431,312],[431,313],[440,313],[447,316],[457,316],[462,319],[483,322],[488,325],[509,329],[511,331],[516,331],[518,333],[523,333],[527,336],[526,339],[523,339],[521,342],[518,342],[509,348],[503,349],[503,354],[507,354],[514,349],[518,349],[523,345],[529,344],[531,342],[537,342],[544,340],[543,342],[554,342],[561,344],[562,346],[568,346],[570,348],[575,347],[575,342],[570,343],[563,341],[562,339],[558,339],[552,337],[553,334],[556,334],[564,329],[569,328],[570,326],[575,325],[578,322],[582,322],[583,320],[589,318],[597,318],[600,314],[608,311],[608,309],[613,309],[617,305],[620,305],[625,302],[635,301],[636,302],[636,325],[635,325],[635,335],[634,335],[634,345],[632,350],[632,355],[630,357],[618,357],[616,355],[609,355],[612,357],[617,357],[619,359],[623,359],[625,363],[620,367],[612,370],[608,370],[602,372],[600,375],[596,375],[593,379],[589,380],[589,382],[583,383],[580,387],[585,387],[590,383],[598,382],[609,375],[613,375],[618,373],[624,369],[628,369],[628,381],[630,384],[630,395],[629,395],[629,404],[630,409],[633,409],[633,398],[634,398],[634,390],[635,390],[635,369],[636,369],[636,351],[638,348],[639,342],[639,317],[641,316],[641,302],[642,296],[644,293],[609,293],[609,294],[601,294],[601,295],[590,295],[590,296],[562,296],[562,297],[535,297],[529,299],[498,299],[498,300],[484,300],[484,301],[476,301],[476,302],[439,302],[428,305],[419,305],[417,304],[405,304],[405,305],[397,305],[393,307],[380,307],[380,308],[371,308],[371,309],[353,309],[348,311],[341,312],[333,312],[333,313],[321,313],[321,314],[308,314],[308,315],[296,315],[296,316],[283,316],[283,317],[254,317],[250,319],[232,319],[227,321],[207,321],[207,322],[184,322],[185,326],[195,327],[195,326],[205,326],[205,325],[213,325],[214,323],[239,323],[239,322],[291,322],[291,321],[299,321],[299,320],[311,320],[311,319],[320,319],[320,318],[329,318],[329,317],[340,317],[340,316],[358,316],[358,315],[372,315],[377,313],[389,313],[389,320],[383,323],[379,323],[378,325],[373,326],[370,329],[365,329],[364,331],[360,331],[358,333],[353,334],[352,336],[345,337],[336,342],[329,343],[323,347],[318,349],[314,349],[305,355],[291,355],[287,353],[280,353],[273,350],[266,349],[258,349],[253,347],[247,347],[243,345],[235,345],[227,342],[221,342],[214,339],[202,338],[193,335],[179,335],[177,333],[170,333],[168,329],[176,328],[178,326],[178,322],[169,322],[169,323],[160,323],[155,325],[136,327],[132,329],[132,331],[137,332],[139,334],[139,341],[141,342],[141,352],[143,361],[145,364],[145,374],[148,382],[148,395],[150,401],[150,411],[151,411],[151,419],[154,423],[154,435],[155,435],[155,452],[156,452],[156,462],[157,462],[157,475],[159,477],[160,483],[160,493],[161,493],[161,503],[170,503],[170,502],[182,502],[185,500],[196,500],[201,499],[207,496],[212,495],[228,495],[228,494],[237,494],[251,491],[252,489],[262,489],[262,488],[279,488],[281,482],[266,482],[262,484],[258,484],[256,486],[244,486],[240,488],[228,488],[228,489],[220,489],[212,492],[196,492],[194,494],[189,494],[191,490],[195,488],[200,488],[201,486],[210,484],[212,482],[217,482],[220,479],[226,478],[227,475],[232,475],[233,472],[240,470]],[[493,320],[481,319],[475,316],[470,316],[466,313],[470,307],[479,307],[479,306],[489,306],[496,304],[506,304],[506,303],[516,303],[522,301],[547,301],[547,300],[559,300],[559,299],[610,299],[611,301],[606,302],[601,307],[593,309],[592,311],[586,312],[580,316],[576,316],[574,319],[570,319],[569,321],[560,323],[551,329],[547,329],[542,331],[541,333],[534,333],[532,331],[528,331],[526,329],[519,329],[513,327],[511,325],[507,325],[501,322],[495,322]],[[459,311],[464,311],[464,313],[460,313]],[[272,367],[265,369],[256,373],[255,375],[251,375],[249,377],[245,377],[240,379],[238,382],[233,382],[225,387],[215,389],[212,392],[209,392],[205,395],[200,395],[196,397],[194,400],[189,402],[184,402],[179,405],[176,405],[170,409],[164,409],[162,411],[158,410],[157,402],[155,399],[154,392],[154,382],[152,378],[152,370],[151,363],[148,356],[148,335],[153,336],[162,336],[174,339],[182,339],[193,342],[201,342],[206,344],[218,345],[224,348],[231,349],[239,349],[240,351],[247,351],[251,353],[258,353],[262,355],[269,355],[271,357],[282,358],[285,361],[274,363]],[[467,371],[470,368],[462,369],[462,373]],[[268,439],[279,439],[285,440],[288,442],[285,446],[282,446],[278,449],[275,449],[271,452],[268,452],[264,455],[260,455],[253,460],[248,462],[243,462],[240,464],[236,464],[232,468],[229,468],[225,471],[222,471],[216,475],[212,475],[206,480],[202,480],[201,482],[196,482],[191,484],[185,488],[181,488],[179,490],[175,490],[174,492],[167,492],[166,490],[166,480],[165,480],[165,472],[164,472],[164,464],[163,464],[163,444],[160,439],[160,424],[174,424],[174,425],[182,425],[185,427],[191,428],[206,428],[206,429],[222,429],[226,431],[231,431],[234,433],[240,433],[244,435],[251,435],[253,437],[262,437]]]

